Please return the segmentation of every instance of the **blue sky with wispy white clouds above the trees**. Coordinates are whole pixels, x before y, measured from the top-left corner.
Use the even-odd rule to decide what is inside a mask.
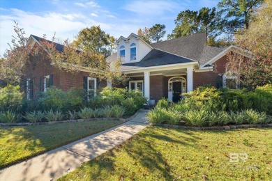
[[[137,33],[139,28],[165,24],[166,35],[174,29],[174,19],[180,11],[199,10],[217,6],[219,0],[169,0],[169,1],[61,1],[61,0],[1,0],[0,1],[0,55],[8,48],[14,21],[27,36],[54,33],[61,42],[73,40],[87,26],[100,25],[115,38]]]

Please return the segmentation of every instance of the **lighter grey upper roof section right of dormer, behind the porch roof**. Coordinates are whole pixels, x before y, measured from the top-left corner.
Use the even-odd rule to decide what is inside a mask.
[[[195,33],[191,36],[156,42],[151,46],[155,49],[198,61],[199,65],[203,65],[224,50],[207,46],[206,33]]]

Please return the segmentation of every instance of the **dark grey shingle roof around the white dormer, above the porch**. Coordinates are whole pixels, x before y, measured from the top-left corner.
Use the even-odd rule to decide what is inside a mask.
[[[195,33],[191,36],[156,42],[151,44],[151,47],[153,47],[153,50],[144,56],[141,61],[123,64],[121,69],[128,70],[193,61],[197,61],[199,65],[204,65],[204,63],[224,50],[207,46],[206,33]],[[116,59],[116,53],[107,57],[107,61],[109,62]]]

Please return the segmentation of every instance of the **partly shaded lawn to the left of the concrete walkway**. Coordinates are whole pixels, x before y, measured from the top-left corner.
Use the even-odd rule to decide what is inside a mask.
[[[0,127],[0,168],[121,123],[120,120],[94,120],[81,123]]]

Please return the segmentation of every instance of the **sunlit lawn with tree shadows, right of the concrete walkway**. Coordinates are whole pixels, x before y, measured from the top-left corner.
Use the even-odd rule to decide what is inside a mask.
[[[147,127],[59,180],[271,180],[272,129]],[[229,162],[229,153],[246,162]]]

